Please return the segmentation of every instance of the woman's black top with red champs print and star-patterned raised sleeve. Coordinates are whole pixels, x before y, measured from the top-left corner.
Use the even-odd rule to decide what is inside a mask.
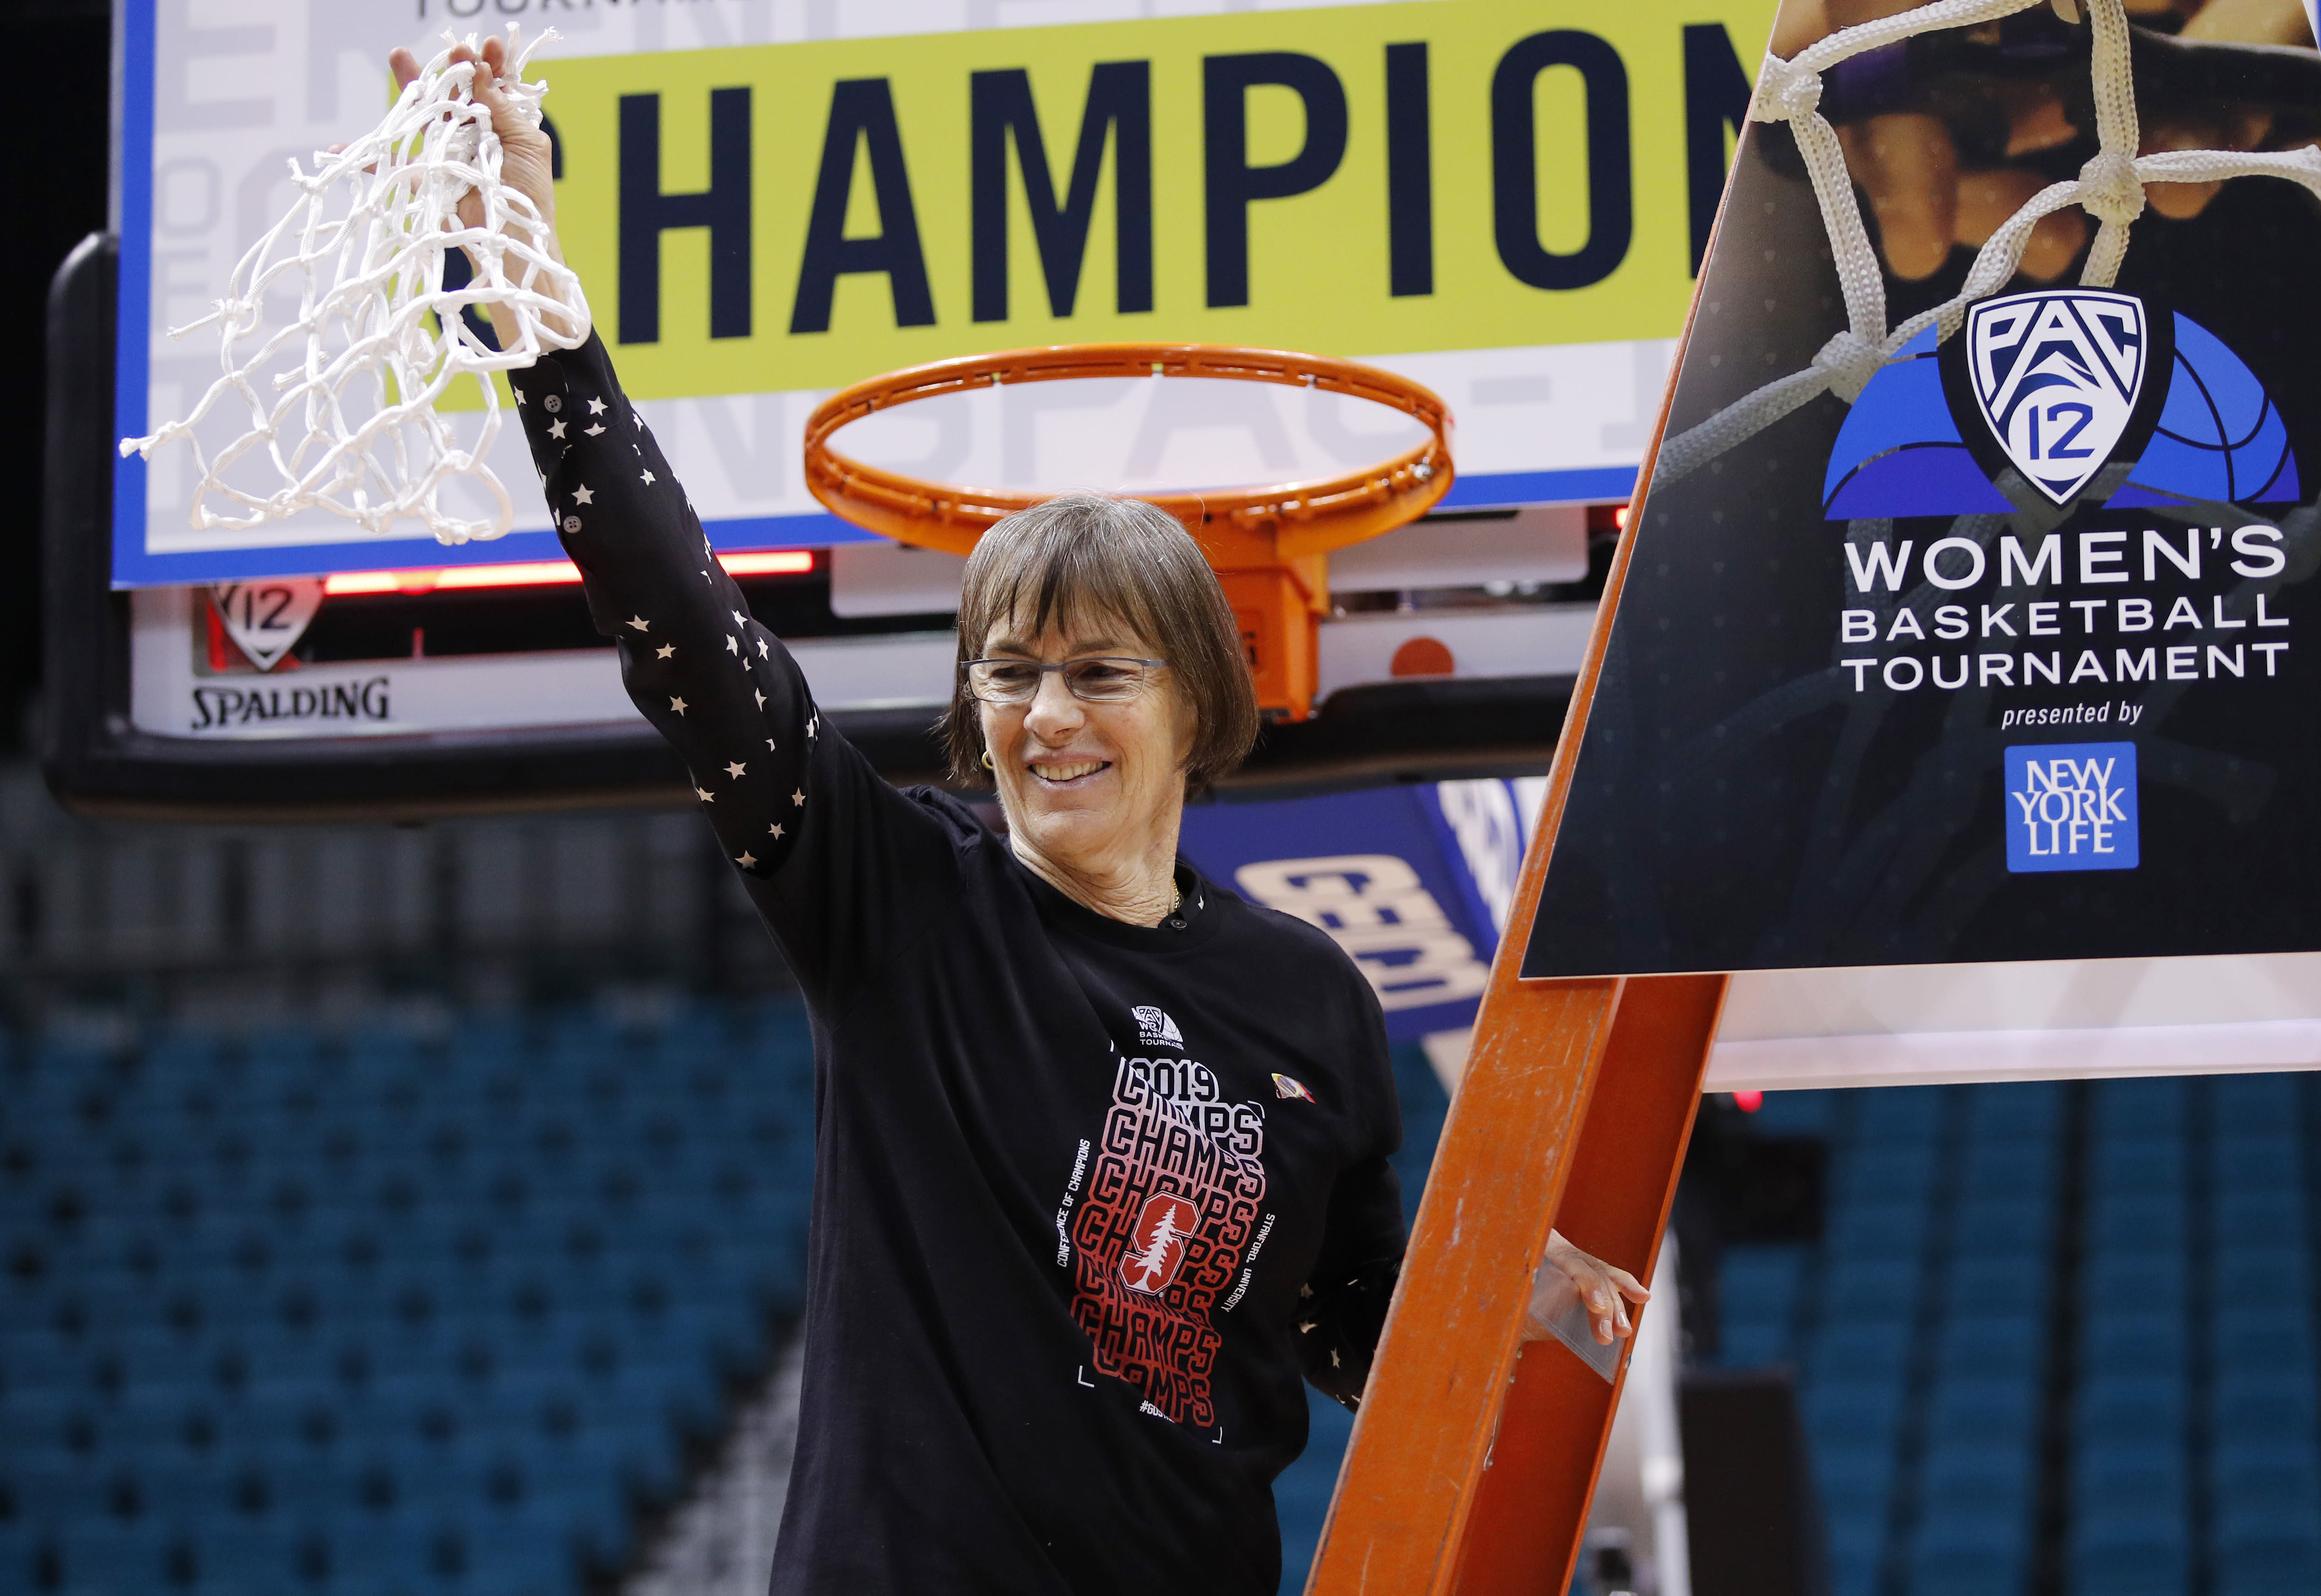
[[[629,696],[815,1021],[798,1452],[773,1589],[1251,1591],[1300,1376],[1355,1401],[1402,1255],[1379,1002],[1179,865],[1128,926],[824,726],[603,346],[515,373]]]

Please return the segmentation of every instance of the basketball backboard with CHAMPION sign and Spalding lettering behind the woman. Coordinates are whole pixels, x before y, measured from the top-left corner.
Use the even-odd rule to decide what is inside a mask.
[[[508,16],[564,35],[538,58],[559,227],[624,383],[884,768],[933,770],[956,566],[815,503],[808,411],[912,362],[1105,339],[1355,357],[1458,420],[1439,513],[1337,559],[1318,714],[1272,728],[1249,779],[1543,768],[1766,0],[490,21]],[[67,798],[288,814],[680,791],[525,503],[513,429],[494,466],[518,522],[460,547],[320,515],[195,531],[181,457],[111,455],[214,376],[214,346],[167,329],[288,204],[288,162],[376,118],[390,46],[485,21],[441,0],[118,9],[114,241],[53,306],[46,763]],[[1003,485],[1200,487],[1365,464],[1390,422],[1293,392],[1075,383],[898,415],[866,448]]]

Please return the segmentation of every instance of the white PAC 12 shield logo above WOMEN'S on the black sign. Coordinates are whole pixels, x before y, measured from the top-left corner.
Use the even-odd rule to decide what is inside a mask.
[[[2015,469],[2070,503],[2145,392],[2145,304],[2094,288],[1984,299],[1966,313],[1975,406]]]

